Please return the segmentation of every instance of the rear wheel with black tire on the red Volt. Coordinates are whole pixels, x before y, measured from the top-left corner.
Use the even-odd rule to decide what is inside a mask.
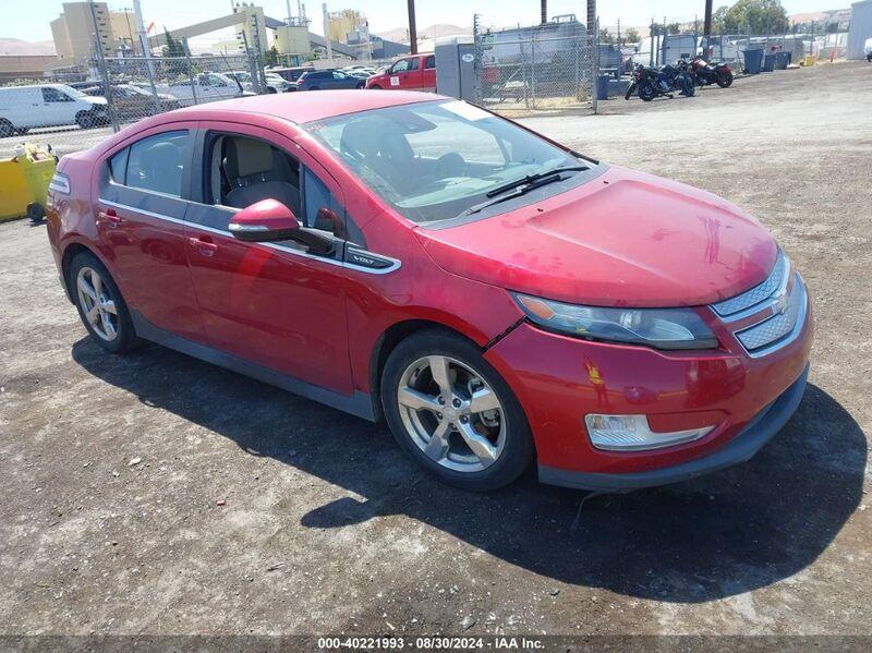
[[[126,353],[138,344],[124,298],[94,254],[75,255],[66,271],[66,282],[82,324],[94,342],[110,353]]]

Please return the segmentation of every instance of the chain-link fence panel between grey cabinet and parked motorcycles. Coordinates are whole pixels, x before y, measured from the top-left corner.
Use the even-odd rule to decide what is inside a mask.
[[[586,33],[475,35],[476,102],[505,113],[595,109],[598,50]]]

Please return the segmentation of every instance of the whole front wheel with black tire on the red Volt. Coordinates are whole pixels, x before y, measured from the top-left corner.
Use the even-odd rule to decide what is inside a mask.
[[[397,443],[441,482],[485,492],[530,464],[521,404],[468,340],[439,329],[407,338],[388,356],[380,389]]]

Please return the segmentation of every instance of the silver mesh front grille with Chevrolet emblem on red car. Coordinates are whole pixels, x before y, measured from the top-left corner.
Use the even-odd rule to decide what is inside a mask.
[[[712,310],[729,325],[758,317],[758,321],[735,331],[746,351],[763,356],[792,341],[802,330],[808,310],[806,286],[790,266],[790,259],[778,252],[770,276],[739,295],[712,304]]]

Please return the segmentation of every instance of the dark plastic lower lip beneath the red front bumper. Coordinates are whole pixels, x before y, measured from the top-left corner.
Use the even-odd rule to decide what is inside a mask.
[[[749,460],[787,423],[796,412],[806,380],[808,365],[800,377],[775,401],[760,411],[736,436],[714,454],[667,468],[628,474],[572,472],[538,465],[538,480],[549,485],[596,492],[630,492],[641,487],[688,481]]]

